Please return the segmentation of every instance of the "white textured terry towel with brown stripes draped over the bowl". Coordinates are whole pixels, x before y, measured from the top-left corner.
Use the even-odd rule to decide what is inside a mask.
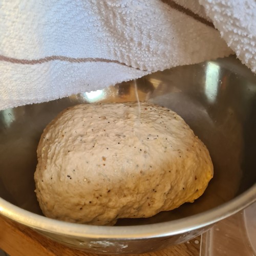
[[[255,72],[254,0],[200,0],[205,11],[190,1],[0,0],[0,109],[102,89],[231,49]]]

